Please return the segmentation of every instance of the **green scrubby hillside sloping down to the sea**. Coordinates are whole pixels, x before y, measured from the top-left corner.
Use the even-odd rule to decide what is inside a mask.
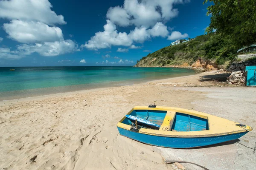
[[[236,51],[236,47],[228,37],[210,33],[148,54],[137,61],[135,66],[190,66],[198,59],[222,65],[226,61],[233,61],[236,58]]]

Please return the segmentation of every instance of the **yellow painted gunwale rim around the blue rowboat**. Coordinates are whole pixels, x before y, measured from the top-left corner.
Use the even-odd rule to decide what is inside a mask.
[[[198,138],[198,137],[230,135],[230,134],[234,134],[234,133],[242,133],[242,132],[253,130],[252,127],[246,126],[245,127],[246,130],[241,128],[241,130],[233,130],[233,131],[231,130],[231,131],[227,131],[227,132],[224,132],[224,133],[214,132],[214,130],[210,129],[210,121],[211,121],[211,119],[214,119],[214,118],[224,119],[224,118],[221,118],[221,117],[218,117],[218,116],[214,116],[214,115],[210,115],[210,114],[207,114],[207,113],[198,112],[198,111],[192,111],[192,110],[188,110],[188,109],[172,108],[172,107],[148,108],[147,106],[136,106],[136,107],[132,108],[131,111],[129,111],[127,114],[130,114],[134,110],[174,111],[174,112],[178,112],[178,113],[189,114],[189,115],[192,115],[192,116],[197,116],[197,117],[201,117],[203,119],[207,119],[208,120],[208,124],[209,124],[209,130],[202,130],[202,131],[183,131],[183,132],[181,132],[181,131],[160,131],[160,130],[154,130],[154,129],[141,128],[139,130],[139,132],[137,132],[137,133],[142,133],[142,134],[147,134],[147,135],[163,136],[163,137],[175,137],[175,138]],[[122,123],[122,121],[125,118],[126,117],[124,116],[117,123],[116,126],[122,128],[122,129],[125,129],[125,130],[130,130],[131,125],[126,125],[126,124]],[[211,118],[211,119],[209,119],[209,118]],[[230,121],[228,119],[225,119],[225,120]],[[230,121],[230,122],[233,122],[233,121]],[[234,123],[237,123],[237,122],[234,122]],[[170,133],[172,133],[172,134],[170,134]],[[191,134],[191,133],[202,133],[202,134],[195,135],[195,134]],[[206,133],[206,134],[204,134],[204,133]]]

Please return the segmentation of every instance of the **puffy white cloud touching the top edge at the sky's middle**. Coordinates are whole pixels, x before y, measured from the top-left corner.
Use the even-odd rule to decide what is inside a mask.
[[[189,0],[125,0],[123,6],[109,8],[106,16],[119,26],[149,27],[176,17],[178,10],[173,6],[186,2]]]

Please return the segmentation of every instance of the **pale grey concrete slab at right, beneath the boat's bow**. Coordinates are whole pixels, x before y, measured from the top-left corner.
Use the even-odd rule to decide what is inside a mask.
[[[207,92],[207,98],[192,102],[194,110],[220,116],[256,128],[256,88],[176,88]],[[252,132],[255,133],[255,130]],[[154,147],[166,160],[183,160],[210,170],[256,170],[256,135],[247,133],[237,141],[195,149]],[[181,163],[189,170],[201,169]]]

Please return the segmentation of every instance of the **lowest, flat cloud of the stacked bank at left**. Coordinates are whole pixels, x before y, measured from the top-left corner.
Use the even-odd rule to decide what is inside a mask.
[[[35,45],[21,44],[17,46],[17,50],[25,55],[30,55],[36,52],[38,54],[41,54],[42,56],[47,57],[79,51],[76,43],[72,40],[43,42],[36,43]]]

